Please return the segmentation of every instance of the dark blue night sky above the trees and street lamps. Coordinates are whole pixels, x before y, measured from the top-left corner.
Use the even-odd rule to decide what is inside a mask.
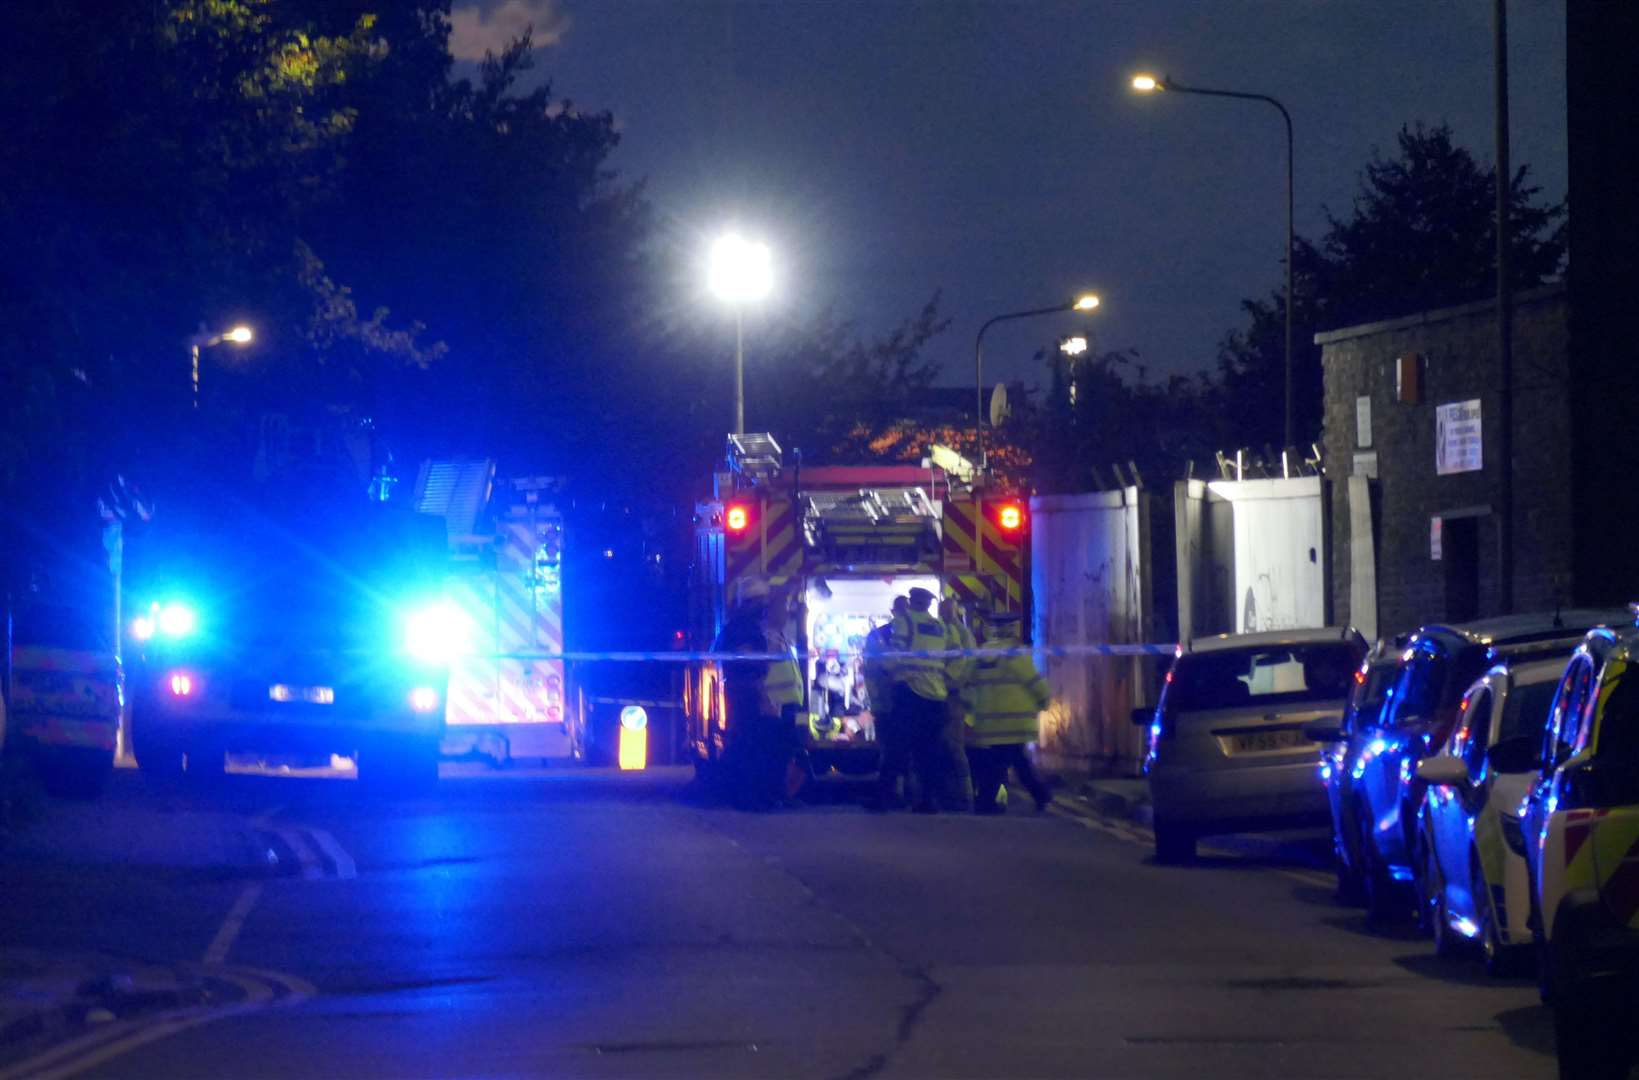
[[[1555,200],[1564,18],[1564,0],[1510,3],[1513,157]],[[769,316],[829,303],[877,334],[942,288],[952,383],[985,318],[1083,287],[1105,298],[1100,346],[1200,370],[1239,300],[1280,285],[1280,116],[1137,97],[1134,70],[1285,102],[1311,238],[1403,123],[1493,152],[1490,0],[484,0],[457,7],[452,51],[524,21],[554,90],[615,113],[615,166],[682,234],[738,221],[774,246]],[[1039,382],[1033,352],[1075,326],[992,331],[987,382]]]

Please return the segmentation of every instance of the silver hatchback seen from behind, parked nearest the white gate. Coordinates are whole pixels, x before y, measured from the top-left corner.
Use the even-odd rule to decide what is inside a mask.
[[[1316,746],[1365,656],[1352,629],[1219,634],[1180,646],[1149,724],[1155,859],[1195,857],[1201,836],[1326,821]]]

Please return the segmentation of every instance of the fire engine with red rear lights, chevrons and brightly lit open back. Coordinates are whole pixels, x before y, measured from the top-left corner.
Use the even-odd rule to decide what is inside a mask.
[[[690,644],[710,651],[746,585],[767,582],[803,672],[801,741],[816,777],[877,767],[865,636],[921,587],[969,610],[1024,613],[1029,523],[1021,498],[934,464],[790,465],[770,434],[734,434],[711,498],[695,506]],[[687,744],[710,772],[733,742],[723,667],[685,680]]]

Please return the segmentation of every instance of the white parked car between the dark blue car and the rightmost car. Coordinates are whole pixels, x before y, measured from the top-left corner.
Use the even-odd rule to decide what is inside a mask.
[[[1428,785],[1418,839],[1418,895],[1434,951],[1475,941],[1493,975],[1519,970],[1531,946],[1519,803],[1565,665],[1498,664],[1469,687],[1439,752],[1418,762]]]

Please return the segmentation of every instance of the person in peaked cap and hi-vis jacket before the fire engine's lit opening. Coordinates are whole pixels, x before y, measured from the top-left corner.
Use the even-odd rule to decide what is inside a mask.
[[[933,613],[936,597],[926,588],[910,592],[910,611],[893,619],[893,719],[905,726],[911,742],[911,759],[921,783],[918,813],[960,810],[962,796],[954,793],[954,769],[946,754],[946,726],[951,716],[947,659],[949,631]],[[926,656],[926,654],[934,656]]]

